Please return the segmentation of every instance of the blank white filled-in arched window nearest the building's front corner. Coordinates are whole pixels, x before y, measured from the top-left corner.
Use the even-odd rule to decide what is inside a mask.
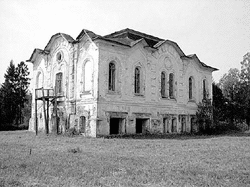
[[[93,65],[91,61],[87,61],[84,65],[84,91],[92,89]]]

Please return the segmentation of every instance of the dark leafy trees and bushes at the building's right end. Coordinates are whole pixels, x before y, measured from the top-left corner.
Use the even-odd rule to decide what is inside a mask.
[[[232,68],[213,83],[213,98],[198,105],[197,123],[202,132],[250,129],[250,53],[241,68]]]

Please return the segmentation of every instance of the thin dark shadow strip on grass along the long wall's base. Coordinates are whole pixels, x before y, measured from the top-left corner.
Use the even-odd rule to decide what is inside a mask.
[[[226,132],[216,135],[202,135],[202,134],[123,134],[123,135],[108,135],[99,136],[107,139],[119,138],[119,139],[176,139],[176,140],[188,140],[188,139],[208,139],[223,136],[231,137],[250,137],[250,132]]]

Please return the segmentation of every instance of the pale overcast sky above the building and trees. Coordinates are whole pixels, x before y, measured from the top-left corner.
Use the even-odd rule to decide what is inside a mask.
[[[175,41],[220,69],[218,82],[250,52],[250,1],[0,0],[0,83],[11,60],[26,61],[52,35],[76,38],[83,28],[99,35],[131,28]]]

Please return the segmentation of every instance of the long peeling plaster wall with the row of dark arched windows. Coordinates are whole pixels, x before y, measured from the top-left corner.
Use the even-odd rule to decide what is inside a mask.
[[[137,44],[133,48],[110,45],[100,42],[99,59],[99,98],[97,134],[109,134],[109,113],[127,114],[126,133],[136,133],[136,118],[148,120],[146,129],[150,133],[164,133],[167,126],[176,124],[175,131],[191,130],[191,117],[195,115],[197,103],[202,100],[202,80],[212,84],[212,72],[193,60],[183,60],[169,44],[164,44],[158,51],[152,52]],[[116,65],[115,91],[108,90],[109,63]],[[142,94],[134,93],[134,69],[142,70]],[[174,73],[175,99],[162,98],[161,72]],[[189,101],[188,79],[194,77],[194,101]],[[168,85],[166,86],[168,89]],[[211,98],[211,86],[209,97]],[[168,92],[168,90],[167,90]],[[118,115],[119,116],[119,115]],[[182,121],[182,117],[184,118]],[[184,124],[184,125],[182,125]],[[169,132],[172,132],[171,129]]]

